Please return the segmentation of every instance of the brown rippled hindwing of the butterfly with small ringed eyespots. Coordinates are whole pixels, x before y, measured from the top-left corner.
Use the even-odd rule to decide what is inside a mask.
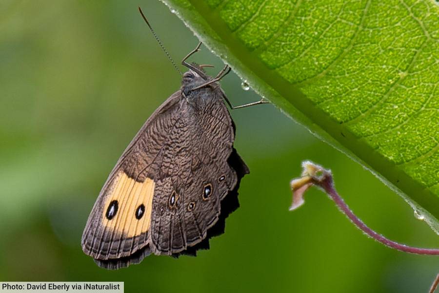
[[[175,254],[199,243],[218,220],[220,200],[236,185],[236,173],[227,163],[234,131],[225,105],[220,98],[194,105],[180,109],[180,144],[170,150],[173,171],[160,181],[163,186],[157,187],[153,201],[151,245],[156,254]]]

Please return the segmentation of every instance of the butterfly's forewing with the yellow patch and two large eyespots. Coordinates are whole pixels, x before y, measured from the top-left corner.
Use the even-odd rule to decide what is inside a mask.
[[[119,258],[147,245],[156,184],[153,163],[157,164],[163,151],[162,142],[179,117],[179,101],[180,91],[155,111],[110,173],[82,235],[83,251],[90,256]],[[107,211],[114,201],[118,209],[109,219]],[[136,211],[141,204],[145,208],[142,217],[137,219]]]

